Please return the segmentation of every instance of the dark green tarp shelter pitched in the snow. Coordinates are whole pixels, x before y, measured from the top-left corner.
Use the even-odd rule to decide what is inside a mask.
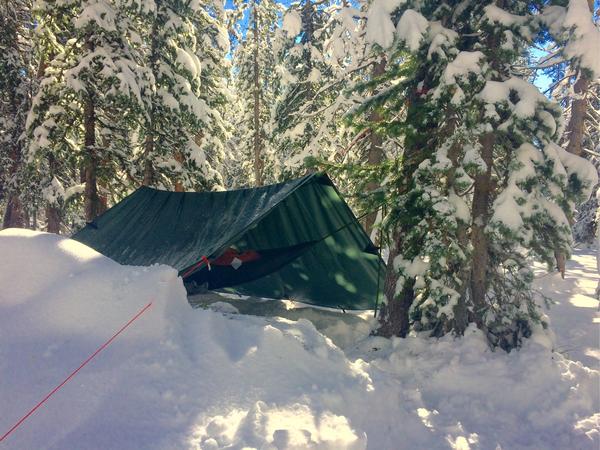
[[[385,273],[377,249],[322,174],[222,192],[142,187],[73,239],[121,264],[168,264],[188,289],[334,308],[373,308]]]

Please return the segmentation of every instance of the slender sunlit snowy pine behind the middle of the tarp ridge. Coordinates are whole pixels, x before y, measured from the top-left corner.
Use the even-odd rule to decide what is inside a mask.
[[[260,186],[277,177],[270,108],[279,89],[273,44],[281,7],[273,0],[239,0],[235,6],[248,24],[237,31],[233,58],[235,95],[242,111],[233,124],[235,140],[244,159],[252,159],[254,185]]]

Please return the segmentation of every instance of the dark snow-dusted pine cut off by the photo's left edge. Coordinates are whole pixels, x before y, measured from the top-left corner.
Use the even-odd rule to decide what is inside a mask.
[[[0,0],[0,205],[2,227],[27,224],[25,193],[25,119],[31,103],[31,1]]]

